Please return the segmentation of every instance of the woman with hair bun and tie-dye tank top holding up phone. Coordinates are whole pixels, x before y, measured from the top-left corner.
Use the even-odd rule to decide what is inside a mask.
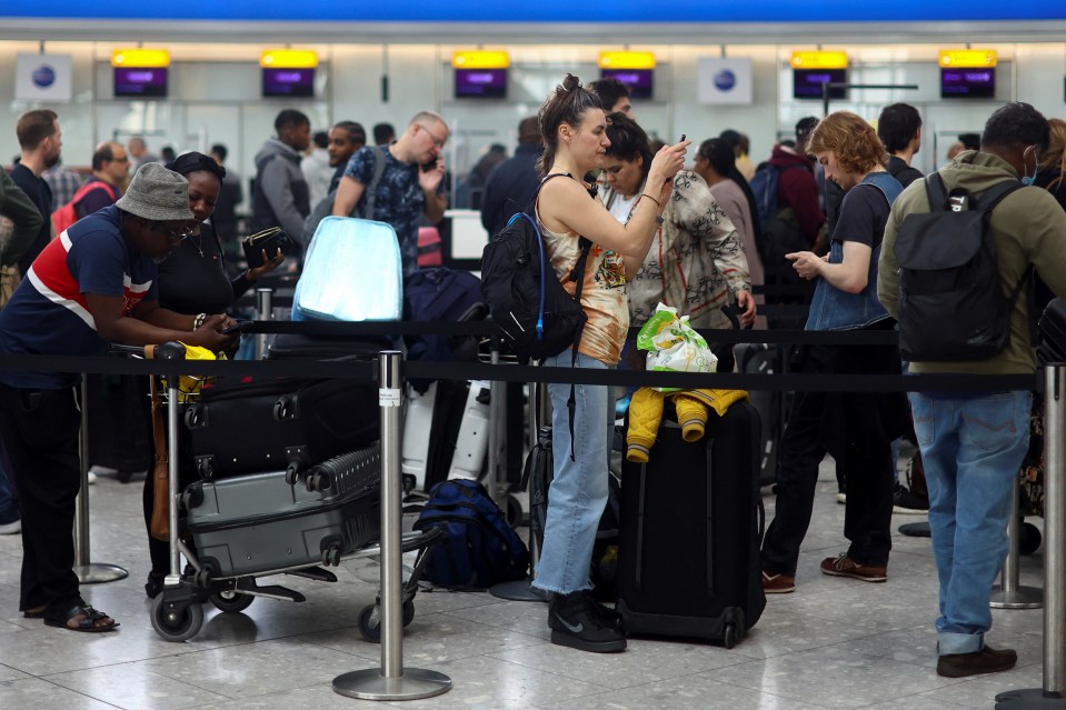
[[[655,154],[644,192],[622,224],[594,199],[581,179],[602,168],[610,147],[599,98],[581,87],[577,77],[567,74],[541,107],[538,121],[545,151],[538,163],[542,182],[537,221],[556,277],[571,294],[576,284],[569,274],[580,256],[580,237],[592,242],[581,290],[588,321],[576,367],[614,368],[629,327],[626,281],[644,263],[689,141]],[[545,361],[548,367],[568,368],[570,363],[569,350]],[[576,386],[572,441],[567,409],[570,386],[548,384],[548,392],[557,453],[534,584],[551,596],[548,626],[552,643],[592,652],[621,651],[626,638],[617,614],[588,594],[592,543],[607,503],[615,420],[610,388]]]

